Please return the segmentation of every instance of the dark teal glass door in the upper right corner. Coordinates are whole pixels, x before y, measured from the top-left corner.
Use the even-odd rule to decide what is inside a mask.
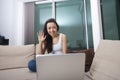
[[[101,0],[103,37],[120,40],[120,0]]]

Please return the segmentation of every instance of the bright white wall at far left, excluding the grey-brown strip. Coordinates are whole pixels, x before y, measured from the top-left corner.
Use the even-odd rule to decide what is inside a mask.
[[[9,39],[9,45],[23,44],[21,5],[18,0],[0,0],[0,35]]]

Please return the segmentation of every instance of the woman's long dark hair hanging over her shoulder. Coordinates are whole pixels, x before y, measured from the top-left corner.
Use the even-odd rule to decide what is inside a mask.
[[[52,39],[52,36],[50,36],[48,34],[48,31],[47,31],[47,24],[50,23],[50,22],[55,23],[56,26],[57,26],[57,31],[59,30],[59,25],[57,24],[55,19],[50,18],[50,19],[48,19],[45,22],[43,33],[46,36],[46,39],[45,39],[45,49],[47,50],[48,53],[52,52],[52,50],[53,50],[53,46],[52,46],[53,45],[53,39]]]

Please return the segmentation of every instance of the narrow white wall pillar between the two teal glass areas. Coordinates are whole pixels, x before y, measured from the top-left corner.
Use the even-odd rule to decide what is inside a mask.
[[[100,0],[90,0],[91,2],[91,15],[92,15],[92,31],[94,51],[98,48],[99,42],[103,39],[102,23],[100,12]]]

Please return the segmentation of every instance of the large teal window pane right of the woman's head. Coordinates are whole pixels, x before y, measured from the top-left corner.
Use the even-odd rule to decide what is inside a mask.
[[[56,20],[67,35],[69,49],[86,49],[83,0],[57,2]]]

